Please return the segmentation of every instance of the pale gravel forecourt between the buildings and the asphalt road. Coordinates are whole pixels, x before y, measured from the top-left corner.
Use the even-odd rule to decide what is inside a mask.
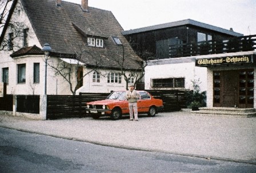
[[[0,115],[0,127],[104,146],[256,164],[256,117],[179,111],[139,115],[135,122],[128,117],[33,120]]]

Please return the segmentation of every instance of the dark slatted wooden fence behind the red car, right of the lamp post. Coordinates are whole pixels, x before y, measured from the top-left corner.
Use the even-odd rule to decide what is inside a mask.
[[[163,100],[164,111],[186,108],[187,90],[147,90],[155,98]],[[86,116],[86,103],[102,100],[110,93],[80,93],[79,95],[47,95],[46,119]]]

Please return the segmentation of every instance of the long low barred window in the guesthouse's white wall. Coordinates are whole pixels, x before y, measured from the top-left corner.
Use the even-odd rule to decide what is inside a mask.
[[[151,86],[156,88],[184,88],[185,78],[152,79]]]

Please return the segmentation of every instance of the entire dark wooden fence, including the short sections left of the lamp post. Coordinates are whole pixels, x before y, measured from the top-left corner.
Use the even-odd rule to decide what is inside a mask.
[[[147,90],[163,100],[164,111],[186,108],[188,90]],[[86,103],[102,100],[110,93],[80,93],[79,95],[47,95],[46,119],[86,116]],[[39,95],[17,95],[17,112],[39,114]],[[0,98],[0,110],[13,111],[13,95]]]

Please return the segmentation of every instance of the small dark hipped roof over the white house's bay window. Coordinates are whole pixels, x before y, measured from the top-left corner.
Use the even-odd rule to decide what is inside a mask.
[[[13,54],[10,55],[10,57],[15,58],[22,55],[43,55],[43,51],[39,47],[34,45],[30,47],[23,47],[22,49],[15,51]]]

